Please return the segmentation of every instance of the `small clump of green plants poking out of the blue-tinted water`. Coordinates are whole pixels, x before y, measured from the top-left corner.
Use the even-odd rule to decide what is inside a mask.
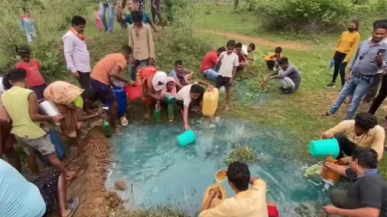
[[[235,161],[244,163],[256,163],[260,161],[260,158],[249,146],[234,146],[230,155],[224,159],[224,162],[226,164],[230,164]]]

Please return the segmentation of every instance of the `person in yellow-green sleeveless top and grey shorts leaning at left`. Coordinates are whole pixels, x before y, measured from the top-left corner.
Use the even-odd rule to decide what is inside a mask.
[[[61,117],[44,116],[38,114],[38,99],[34,91],[26,88],[26,71],[11,70],[4,78],[3,83],[12,86],[2,95],[3,105],[12,120],[11,133],[15,135],[19,144],[24,147],[28,155],[31,170],[38,173],[35,163],[35,153],[46,156],[52,166],[59,169],[67,179],[74,175],[68,171],[57,158],[54,145],[47,133],[36,122],[57,123]],[[66,183],[66,180],[63,180]]]

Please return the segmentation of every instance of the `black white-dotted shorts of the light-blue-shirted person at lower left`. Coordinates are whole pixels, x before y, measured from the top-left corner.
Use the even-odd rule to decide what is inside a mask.
[[[50,168],[32,182],[39,188],[40,194],[46,204],[45,213],[51,211],[52,204],[56,200],[59,176],[60,171],[58,169]]]

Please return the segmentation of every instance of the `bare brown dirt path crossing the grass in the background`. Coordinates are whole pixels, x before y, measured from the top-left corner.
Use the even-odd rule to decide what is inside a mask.
[[[269,47],[282,47],[284,49],[290,49],[290,50],[298,50],[298,51],[310,51],[313,48],[309,45],[305,45],[298,42],[292,42],[292,41],[279,41],[279,42],[273,42],[270,41],[267,38],[260,38],[260,37],[250,37],[242,34],[237,33],[230,33],[230,32],[221,32],[221,31],[213,31],[213,30],[199,30],[202,33],[209,33],[214,34],[217,36],[225,37],[234,39],[237,41],[242,41],[245,43],[255,43],[258,45],[264,45]]]

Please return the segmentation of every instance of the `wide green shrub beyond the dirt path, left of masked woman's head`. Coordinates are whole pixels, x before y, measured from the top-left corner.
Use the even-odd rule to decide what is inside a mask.
[[[354,11],[351,0],[249,1],[255,1],[264,27],[281,31],[332,31]]]

